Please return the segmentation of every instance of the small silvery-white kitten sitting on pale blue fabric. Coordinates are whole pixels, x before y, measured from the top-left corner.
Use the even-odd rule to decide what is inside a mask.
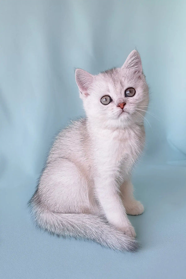
[[[144,211],[133,197],[131,171],[144,147],[148,106],[139,53],[96,76],[76,69],[75,78],[87,117],[57,136],[30,200],[33,216],[58,236],[136,250],[127,214]]]

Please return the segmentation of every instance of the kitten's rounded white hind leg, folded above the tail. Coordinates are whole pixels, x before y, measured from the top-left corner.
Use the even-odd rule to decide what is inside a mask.
[[[54,212],[89,213],[89,192],[85,172],[70,160],[56,158],[42,173],[37,200]]]

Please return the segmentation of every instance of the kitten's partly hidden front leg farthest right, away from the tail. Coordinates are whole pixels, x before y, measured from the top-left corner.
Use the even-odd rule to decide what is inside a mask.
[[[144,212],[144,207],[140,201],[136,201],[133,196],[133,185],[127,180],[121,186],[121,196],[126,213],[129,215],[140,215]]]

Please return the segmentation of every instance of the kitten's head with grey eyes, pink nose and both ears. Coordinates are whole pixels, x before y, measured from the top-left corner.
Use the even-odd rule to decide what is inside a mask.
[[[148,106],[148,86],[136,50],[121,68],[92,75],[76,69],[75,78],[90,121],[110,127],[143,122]]]

